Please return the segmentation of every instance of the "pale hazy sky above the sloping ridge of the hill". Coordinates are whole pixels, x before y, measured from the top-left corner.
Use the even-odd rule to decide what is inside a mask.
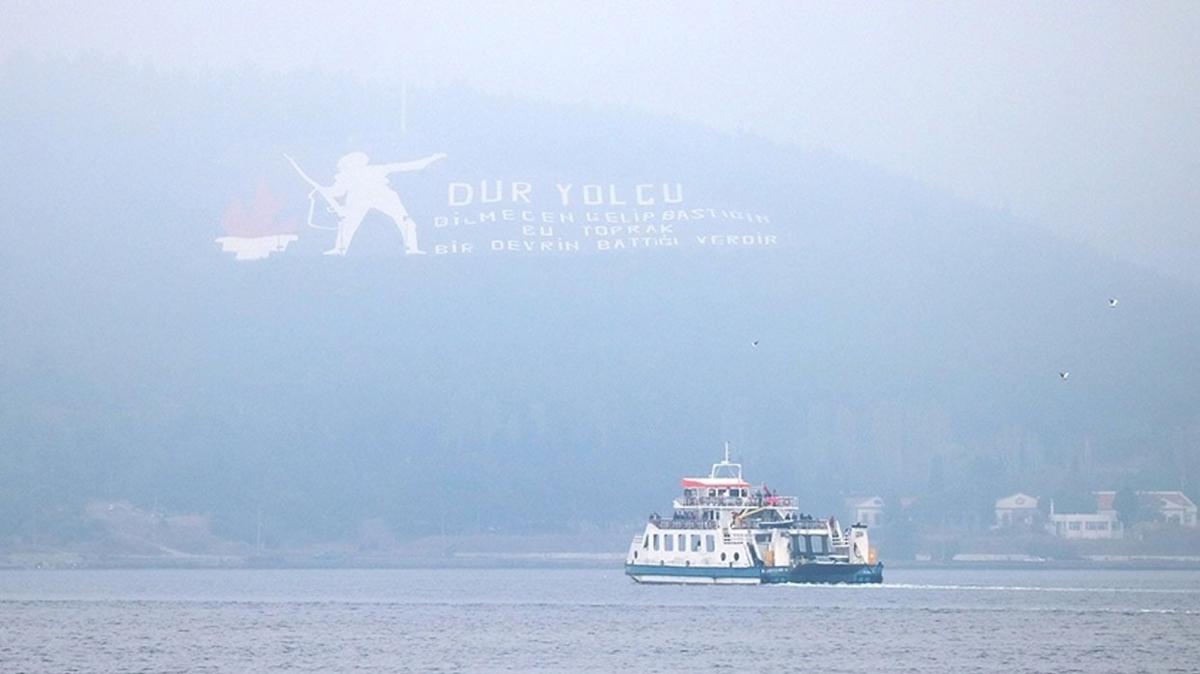
[[[827,148],[1200,283],[1200,2],[0,5],[2,55],[319,67],[677,115]]]

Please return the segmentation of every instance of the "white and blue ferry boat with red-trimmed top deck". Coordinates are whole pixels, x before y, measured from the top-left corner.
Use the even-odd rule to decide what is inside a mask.
[[[625,573],[638,583],[882,583],[866,526],[802,513],[794,497],[751,489],[725,459],[708,477],[684,477],[670,518],[650,514]]]

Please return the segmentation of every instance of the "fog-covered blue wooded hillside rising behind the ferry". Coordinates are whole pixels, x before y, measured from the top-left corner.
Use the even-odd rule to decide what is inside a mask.
[[[70,540],[94,500],[242,540],[259,512],[278,541],[619,526],[726,440],[815,512],[1198,495],[1195,289],[869,166],[467,89],[116,62],[11,59],[0,121],[6,543]],[[392,176],[428,254],[379,212],[322,254],[283,154],[328,185],[352,151],[446,155]],[[264,234],[296,239],[216,241]]]

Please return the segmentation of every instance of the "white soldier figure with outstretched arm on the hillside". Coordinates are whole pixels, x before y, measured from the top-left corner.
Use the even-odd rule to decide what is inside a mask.
[[[400,234],[404,237],[404,253],[409,255],[424,254],[425,251],[416,242],[416,223],[408,215],[408,209],[400,200],[400,194],[396,194],[389,185],[388,176],[392,173],[421,170],[444,157],[444,154],[438,152],[412,162],[371,164],[366,154],[350,152],[337,161],[337,174],[334,176],[334,185],[329,187],[317,185],[304,175],[304,171],[300,171],[305,180],[308,180],[313,188],[325,198],[330,210],[338,216],[337,240],[332,248],[325,251],[325,254],[344,255],[350,247],[350,241],[354,240],[354,233],[359,230],[362,218],[371,209],[383,212],[396,223]],[[299,166],[295,168],[300,170]],[[344,200],[338,200],[343,197]]]

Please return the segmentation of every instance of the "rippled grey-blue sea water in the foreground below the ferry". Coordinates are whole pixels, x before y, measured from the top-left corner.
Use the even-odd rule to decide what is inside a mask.
[[[4,571],[0,672],[1200,672],[1200,572]]]

